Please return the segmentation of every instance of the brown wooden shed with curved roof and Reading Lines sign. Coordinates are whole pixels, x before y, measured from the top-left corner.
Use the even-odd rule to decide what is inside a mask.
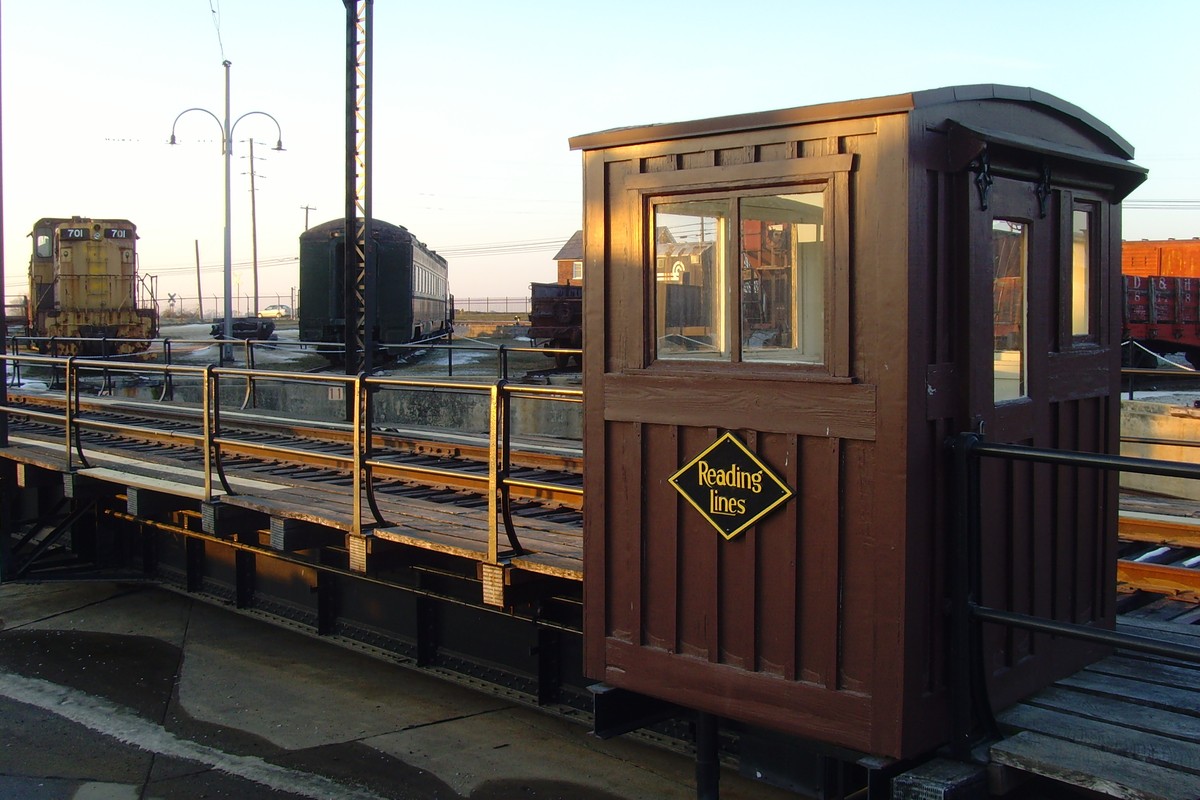
[[[588,675],[864,753],[946,742],[943,443],[1117,452],[1132,148],[998,85],[570,144]],[[984,599],[1111,625],[1116,483],[988,477]],[[997,706],[1097,655],[985,633]]]

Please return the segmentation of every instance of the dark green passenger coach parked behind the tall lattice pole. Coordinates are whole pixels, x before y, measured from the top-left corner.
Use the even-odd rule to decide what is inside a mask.
[[[412,344],[450,332],[451,305],[446,260],[407,228],[373,219],[377,345]],[[342,360],[346,343],[346,221],[331,219],[300,235],[300,338],[324,342],[325,355]],[[388,354],[395,356],[395,353]]]

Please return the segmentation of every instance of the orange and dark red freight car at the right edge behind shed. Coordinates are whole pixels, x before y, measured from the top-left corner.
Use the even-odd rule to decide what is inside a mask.
[[[1121,275],[1124,338],[1140,345],[1126,362],[1153,367],[1148,350],[1200,367],[1200,239],[1122,242]]]

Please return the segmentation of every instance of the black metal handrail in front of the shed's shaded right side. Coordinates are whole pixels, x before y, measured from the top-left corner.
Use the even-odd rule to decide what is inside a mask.
[[[1139,473],[1165,477],[1200,479],[1200,464],[1134,458],[1106,453],[1051,450],[986,441],[978,433],[960,433],[947,441],[954,458],[954,523],[950,543],[950,692],[955,754],[966,758],[972,746],[973,720],[996,730],[984,680],[982,624],[994,622],[1096,644],[1127,648],[1152,655],[1200,663],[1200,648],[1162,642],[1074,622],[1062,622],[982,604],[980,475],[983,458],[1000,458],[1105,471]]]

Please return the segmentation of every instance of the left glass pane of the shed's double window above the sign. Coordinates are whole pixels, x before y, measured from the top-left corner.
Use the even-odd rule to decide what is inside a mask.
[[[727,200],[654,207],[655,330],[660,359],[730,359],[725,313]]]

